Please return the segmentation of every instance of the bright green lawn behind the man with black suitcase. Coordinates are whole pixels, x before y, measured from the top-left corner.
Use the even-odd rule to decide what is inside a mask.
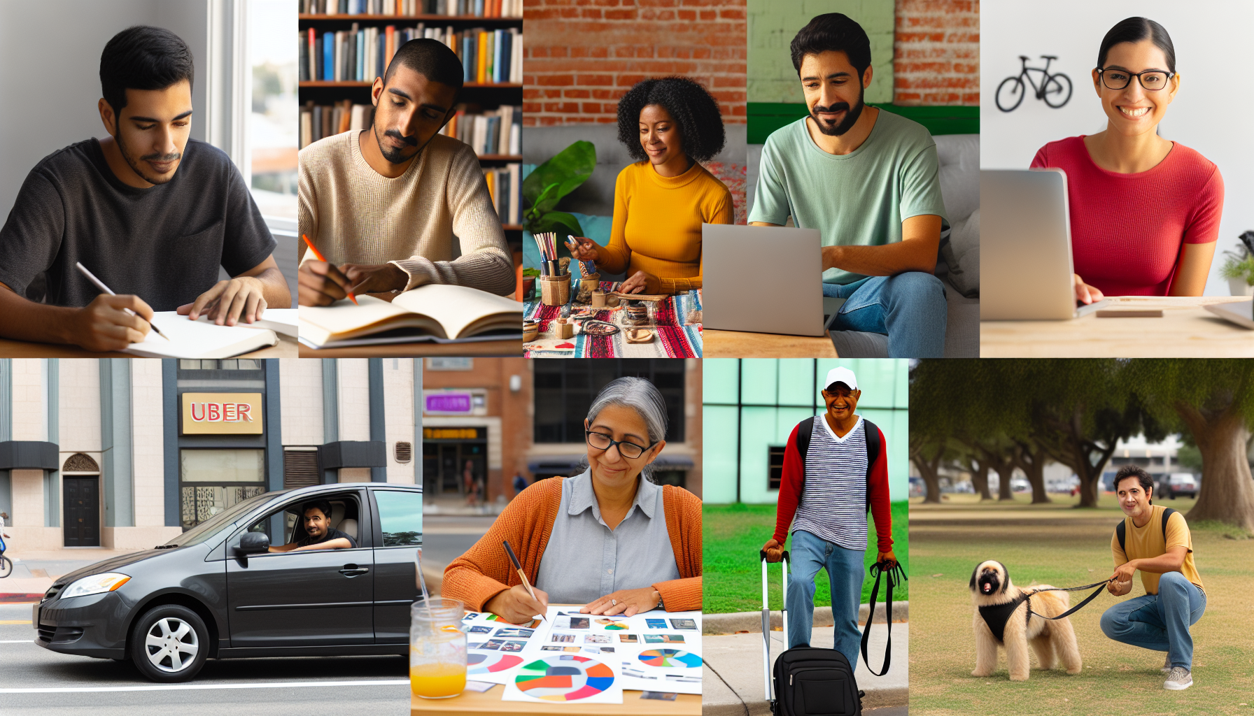
[[[909,574],[909,543],[907,542],[907,510],[905,502],[895,502],[893,507],[893,552],[902,561],[902,567]],[[701,509],[703,539],[703,598],[701,611],[706,613],[720,612],[756,612],[762,608],[762,568],[757,552],[771,538],[775,532],[775,505],[771,504],[731,504],[731,505],[705,505]],[[875,562],[875,527],[868,518],[867,534],[867,566]],[[786,548],[793,547],[791,535]],[[781,566],[767,567],[767,581],[770,583],[771,608],[779,609],[784,606],[784,597],[780,589]],[[815,607],[831,606],[831,591],[828,586],[826,571],[820,571],[816,579],[814,594]],[[868,574],[863,581],[863,603],[870,599],[870,588],[874,581]],[[884,601],[885,581],[880,579],[879,601]],[[893,589],[894,601],[905,601],[909,583]]]

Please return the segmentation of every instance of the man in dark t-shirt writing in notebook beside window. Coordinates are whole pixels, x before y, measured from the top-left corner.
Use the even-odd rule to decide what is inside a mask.
[[[0,228],[0,337],[118,350],[144,339],[153,311],[234,325],[291,305],[240,171],[189,137],[192,80],[192,53],[168,30],[129,28],[105,45],[108,135],[41,159]]]

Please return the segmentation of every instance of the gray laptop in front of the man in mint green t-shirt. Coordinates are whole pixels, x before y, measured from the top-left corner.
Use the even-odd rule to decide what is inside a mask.
[[[826,335],[819,242],[816,228],[701,224],[702,326]]]

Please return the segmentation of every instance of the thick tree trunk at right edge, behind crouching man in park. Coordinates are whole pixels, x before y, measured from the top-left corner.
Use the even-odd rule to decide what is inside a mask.
[[[1199,410],[1176,404],[1175,408],[1201,453],[1198,503],[1185,518],[1216,519],[1254,532],[1254,479],[1245,453],[1250,431],[1244,419],[1230,406]]]

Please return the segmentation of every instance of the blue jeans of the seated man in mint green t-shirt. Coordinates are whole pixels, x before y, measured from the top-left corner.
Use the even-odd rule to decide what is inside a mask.
[[[824,283],[823,295],[845,300],[831,330],[888,334],[889,357],[944,356],[948,307],[944,283],[935,276],[907,271],[846,286]]]

